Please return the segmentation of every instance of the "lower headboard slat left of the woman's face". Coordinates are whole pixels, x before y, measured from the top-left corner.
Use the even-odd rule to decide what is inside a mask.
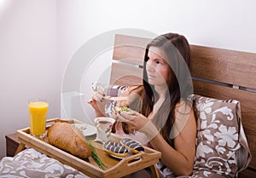
[[[139,85],[143,83],[143,69],[124,64],[112,64],[110,84]]]

